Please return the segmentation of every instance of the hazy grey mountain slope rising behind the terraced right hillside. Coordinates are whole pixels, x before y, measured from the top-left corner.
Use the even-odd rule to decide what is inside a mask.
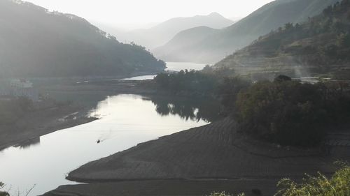
[[[318,15],[321,11],[338,0],[276,0],[267,3],[262,8],[251,13],[232,26],[222,29],[209,36],[204,36],[202,40],[195,44],[192,42],[183,44],[178,50],[167,53],[170,45],[159,47],[155,50],[155,56],[166,61],[193,61],[199,63],[214,63],[223,59],[227,54],[235,52],[259,36],[288,22],[304,22],[308,17]],[[204,32],[206,33],[206,32]],[[193,36],[193,39],[198,35]],[[181,40],[177,38],[178,40]],[[174,42],[173,42],[174,43]],[[176,43],[177,44],[177,43]],[[179,44],[177,44],[179,45]]]

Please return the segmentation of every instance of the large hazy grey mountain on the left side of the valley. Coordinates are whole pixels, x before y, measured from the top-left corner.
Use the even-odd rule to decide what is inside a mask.
[[[75,15],[25,1],[0,0],[0,77],[127,75],[163,70],[165,63],[139,45]]]

